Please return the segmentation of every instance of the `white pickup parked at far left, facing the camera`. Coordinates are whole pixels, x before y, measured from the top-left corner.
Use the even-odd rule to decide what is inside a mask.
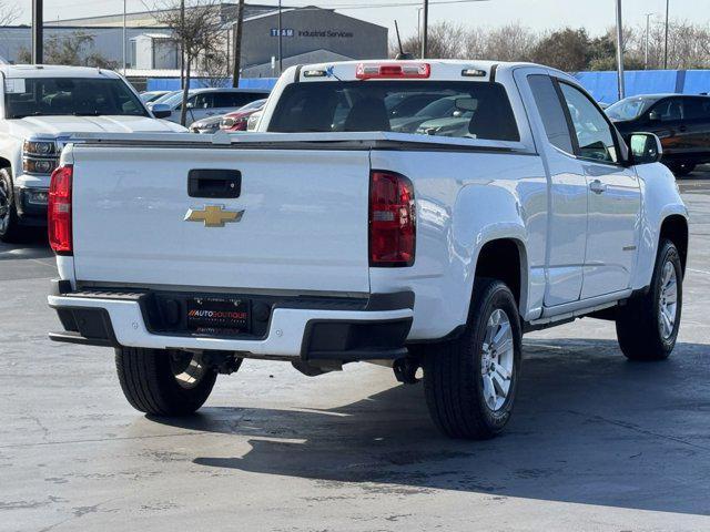
[[[75,133],[180,132],[155,120],[138,93],[109,70],[0,65],[0,239],[47,225],[50,174]]]

